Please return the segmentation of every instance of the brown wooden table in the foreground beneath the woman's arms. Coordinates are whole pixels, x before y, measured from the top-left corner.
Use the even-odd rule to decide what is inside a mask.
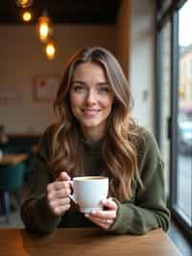
[[[0,256],[179,256],[160,229],[143,236],[95,228],[60,228],[40,237],[24,229],[0,229]]]

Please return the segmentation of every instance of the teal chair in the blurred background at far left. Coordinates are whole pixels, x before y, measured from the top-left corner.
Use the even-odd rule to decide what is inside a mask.
[[[25,163],[0,166],[0,203],[7,221],[10,220],[10,192],[18,191],[24,184]]]

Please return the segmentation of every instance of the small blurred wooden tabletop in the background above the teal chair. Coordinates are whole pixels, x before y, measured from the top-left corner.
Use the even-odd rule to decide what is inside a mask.
[[[16,165],[25,161],[28,158],[28,154],[4,154],[0,159],[0,166]]]

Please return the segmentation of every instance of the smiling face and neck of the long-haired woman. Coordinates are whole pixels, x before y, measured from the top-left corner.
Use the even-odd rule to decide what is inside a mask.
[[[79,64],[70,86],[70,106],[84,136],[101,139],[104,136],[114,94],[100,64]]]

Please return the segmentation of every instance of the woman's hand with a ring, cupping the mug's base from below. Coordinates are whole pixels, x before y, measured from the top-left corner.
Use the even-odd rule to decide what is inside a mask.
[[[92,211],[90,214],[85,214],[84,217],[107,230],[117,216],[117,205],[112,198],[101,201],[101,205],[106,207],[107,210]]]

